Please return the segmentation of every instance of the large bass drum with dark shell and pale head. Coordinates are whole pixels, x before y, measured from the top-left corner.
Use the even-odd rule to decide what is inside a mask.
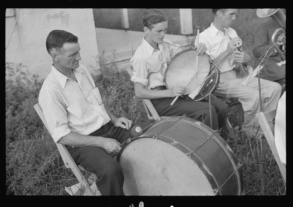
[[[168,117],[122,146],[123,192],[137,196],[241,195],[236,156],[211,128]]]

